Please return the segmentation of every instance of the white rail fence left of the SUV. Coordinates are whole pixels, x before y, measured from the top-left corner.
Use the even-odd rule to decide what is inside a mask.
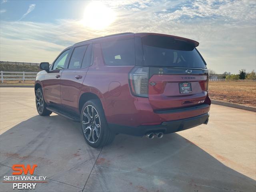
[[[13,72],[13,71],[1,71],[1,82],[4,80],[35,80],[38,72]],[[15,74],[15,75],[13,75]],[[34,75],[32,75],[34,74]],[[7,77],[7,78],[6,78]]]

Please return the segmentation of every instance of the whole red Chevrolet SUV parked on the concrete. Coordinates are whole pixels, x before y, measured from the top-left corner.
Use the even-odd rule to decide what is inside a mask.
[[[208,69],[198,42],[154,33],[122,33],[63,50],[36,76],[36,108],[81,123],[92,147],[116,134],[162,138],[207,124]]]

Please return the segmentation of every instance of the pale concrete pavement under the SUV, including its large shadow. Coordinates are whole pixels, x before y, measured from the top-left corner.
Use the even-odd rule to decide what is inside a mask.
[[[13,164],[37,164],[36,191],[255,191],[256,113],[212,105],[208,125],[94,149],[80,124],[36,112],[33,88],[0,88],[0,191]]]

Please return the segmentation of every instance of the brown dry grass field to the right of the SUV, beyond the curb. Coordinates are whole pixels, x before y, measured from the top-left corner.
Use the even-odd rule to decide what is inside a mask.
[[[210,81],[213,100],[256,107],[256,81]]]

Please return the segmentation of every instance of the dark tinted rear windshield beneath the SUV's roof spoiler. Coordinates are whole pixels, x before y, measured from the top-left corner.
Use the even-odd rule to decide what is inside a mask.
[[[192,44],[163,36],[142,38],[146,66],[206,68],[204,61]]]

